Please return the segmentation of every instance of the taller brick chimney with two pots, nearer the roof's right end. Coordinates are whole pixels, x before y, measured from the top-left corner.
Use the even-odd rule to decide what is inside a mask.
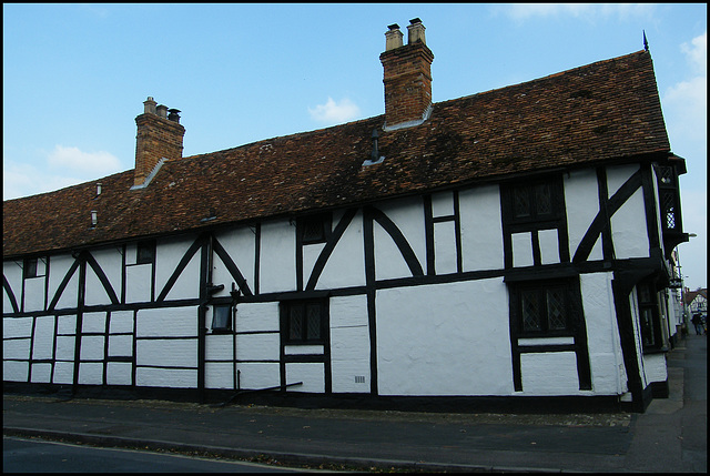
[[[418,125],[432,111],[434,53],[426,45],[422,20],[409,23],[406,45],[399,26],[388,27],[385,52],[379,55],[385,70],[385,130]]]

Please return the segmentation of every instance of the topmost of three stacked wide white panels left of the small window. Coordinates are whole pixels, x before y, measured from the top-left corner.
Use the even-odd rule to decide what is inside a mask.
[[[135,335],[139,337],[196,337],[196,307],[140,310]]]

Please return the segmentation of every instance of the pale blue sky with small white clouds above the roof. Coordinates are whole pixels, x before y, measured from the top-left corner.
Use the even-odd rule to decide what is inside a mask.
[[[183,155],[384,112],[387,26],[426,27],[434,102],[628,54],[649,41],[684,158],[686,284],[707,284],[707,6],[3,3],[3,200],[133,168],[151,95]]]

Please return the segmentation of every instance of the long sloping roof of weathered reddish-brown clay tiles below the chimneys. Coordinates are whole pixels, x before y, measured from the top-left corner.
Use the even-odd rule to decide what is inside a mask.
[[[667,154],[645,51],[435,103],[424,124],[384,115],[168,161],[144,190],[133,171],[3,202],[3,255],[67,250],[224,223],[363,204],[510,174]],[[103,193],[95,198],[95,183]],[[91,211],[98,226],[90,229]],[[215,217],[203,219],[214,211]]]

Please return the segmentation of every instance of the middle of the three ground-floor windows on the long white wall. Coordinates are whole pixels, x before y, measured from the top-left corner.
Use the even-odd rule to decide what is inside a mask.
[[[317,323],[314,323],[313,320],[316,318]],[[327,332],[327,298],[293,300],[281,303],[281,334],[285,345],[325,345]]]

